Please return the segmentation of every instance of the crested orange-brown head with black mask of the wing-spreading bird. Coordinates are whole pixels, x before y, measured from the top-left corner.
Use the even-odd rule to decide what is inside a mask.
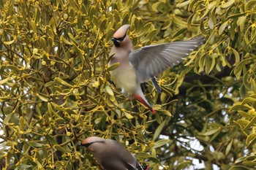
[[[120,47],[125,43],[129,42],[129,37],[127,36],[127,30],[129,29],[129,25],[121,26],[116,33],[113,35],[111,39],[116,47]]]

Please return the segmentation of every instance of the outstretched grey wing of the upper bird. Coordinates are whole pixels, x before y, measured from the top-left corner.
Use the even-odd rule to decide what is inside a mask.
[[[197,36],[186,41],[148,45],[132,51],[129,62],[135,67],[140,82],[146,82],[183,61],[203,41],[203,36]]]

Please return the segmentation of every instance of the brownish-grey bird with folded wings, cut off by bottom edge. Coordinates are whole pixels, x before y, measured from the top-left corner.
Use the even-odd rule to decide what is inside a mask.
[[[105,170],[147,170],[140,166],[135,157],[120,144],[111,139],[97,136],[86,138],[81,143]]]

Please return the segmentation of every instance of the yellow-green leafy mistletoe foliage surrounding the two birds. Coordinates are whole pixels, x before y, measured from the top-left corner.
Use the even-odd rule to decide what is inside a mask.
[[[153,169],[255,168],[255,5],[0,0],[1,166],[97,169],[78,144],[102,136]],[[159,75],[163,93],[144,85],[156,116],[108,82],[110,38],[125,23],[135,48],[206,36]]]

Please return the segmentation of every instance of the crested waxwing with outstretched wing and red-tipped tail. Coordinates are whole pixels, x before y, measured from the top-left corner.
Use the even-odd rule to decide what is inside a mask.
[[[119,63],[117,69],[110,72],[111,79],[118,88],[121,88],[121,93],[125,97],[140,101],[155,114],[143,95],[140,83],[152,80],[157,91],[161,92],[155,76],[183,61],[192,50],[203,43],[204,38],[198,36],[186,41],[148,45],[133,50],[132,41],[127,36],[129,27],[121,26],[111,39],[114,45],[110,55],[113,57],[108,66]]]

